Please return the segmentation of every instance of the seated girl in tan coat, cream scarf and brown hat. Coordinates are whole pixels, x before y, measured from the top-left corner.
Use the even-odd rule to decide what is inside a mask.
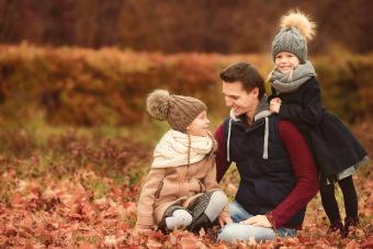
[[[158,143],[150,172],[143,186],[135,230],[155,226],[199,231],[217,217],[229,223],[227,197],[216,182],[216,143],[208,132],[206,105],[191,97],[156,90],[147,99],[147,111],[171,126]]]

